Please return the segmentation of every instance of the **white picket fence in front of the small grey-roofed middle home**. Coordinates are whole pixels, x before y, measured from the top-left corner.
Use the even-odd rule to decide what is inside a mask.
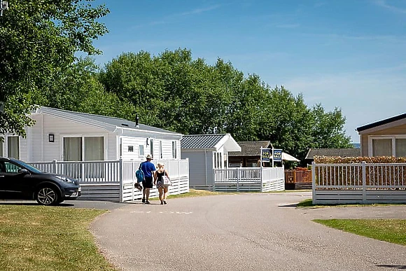
[[[227,192],[285,190],[283,167],[237,167],[214,169],[214,188]]]

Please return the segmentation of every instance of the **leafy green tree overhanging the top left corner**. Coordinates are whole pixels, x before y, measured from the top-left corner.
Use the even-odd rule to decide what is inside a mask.
[[[100,53],[92,40],[107,32],[99,18],[105,6],[87,0],[9,1],[0,17],[0,134],[25,135],[27,116],[41,97],[75,60],[77,52]]]

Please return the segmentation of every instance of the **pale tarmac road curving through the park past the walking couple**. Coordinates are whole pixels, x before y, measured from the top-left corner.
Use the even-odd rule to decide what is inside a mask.
[[[405,270],[406,246],[314,218],[406,218],[404,206],[296,209],[310,193],[216,195],[125,204],[92,223],[122,270]]]

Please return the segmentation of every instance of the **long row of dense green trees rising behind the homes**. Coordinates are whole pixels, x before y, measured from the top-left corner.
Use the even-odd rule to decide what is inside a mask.
[[[228,132],[237,141],[269,140],[303,159],[309,148],[350,146],[340,109],[309,108],[302,94],[270,88],[230,62],[193,60],[190,50],[124,53],[99,80],[134,105],[141,122],[183,134]]]

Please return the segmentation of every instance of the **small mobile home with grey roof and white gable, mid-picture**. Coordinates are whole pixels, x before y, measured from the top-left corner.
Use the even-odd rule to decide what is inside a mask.
[[[190,187],[211,189],[214,169],[228,165],[228,153],[241,151],[230,134],[190,134],[181,140],[181,158],[189,160]]]

